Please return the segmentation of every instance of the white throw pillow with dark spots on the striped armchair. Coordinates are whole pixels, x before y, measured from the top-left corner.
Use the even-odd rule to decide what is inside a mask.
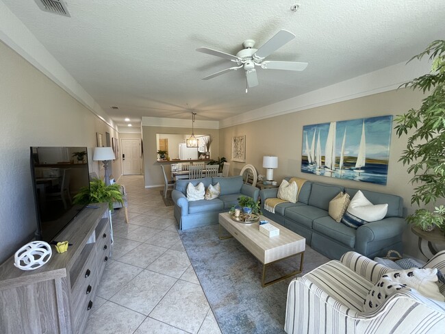
[[[385,303],[386,298],[400,290],[417,290],[419,294],[427,298],[445,301],[440,294],[437,285],[437,269],[411,268],[408,270],[396,270],[384,274],[379,282],[368,292],[364,302],[364,310],[370,311]]]

